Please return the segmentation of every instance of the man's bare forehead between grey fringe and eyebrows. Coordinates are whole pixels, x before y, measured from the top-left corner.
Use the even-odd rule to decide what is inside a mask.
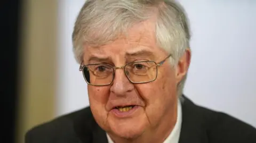
[[[134,24],[125,35],[118,37],[114,41],[99,47],[85,47],[84,60],[89,60],[90,56],[116,56],[142,53],[155,53],[161,50],[156,44],[155,21],[147,20]],[[148,53],[147,53],[148,54]]]

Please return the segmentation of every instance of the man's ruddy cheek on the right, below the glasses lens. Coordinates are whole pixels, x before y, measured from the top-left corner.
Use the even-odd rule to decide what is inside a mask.
[[[168,74],[162,74],[168,75]],[[146,114],[151,123],[161,120],[176,100],[176,81],[174,73],[169,76],[159,76],[157,80],[137,85],[141,98],[146,101]]]

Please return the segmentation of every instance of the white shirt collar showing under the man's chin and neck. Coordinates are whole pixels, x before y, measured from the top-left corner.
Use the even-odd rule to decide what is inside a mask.
[[[177,115],[177,121],[175,123],[175,126],[170,133],[170,135],[165,139],[163,143],[178,143],[180,138],[180,131],[181,131],[181,122],[182,122],[182,110],[181,110],[181,102],[178,100],[178,115]],[[108,143],[114,143],[114,141],[108,136]]]

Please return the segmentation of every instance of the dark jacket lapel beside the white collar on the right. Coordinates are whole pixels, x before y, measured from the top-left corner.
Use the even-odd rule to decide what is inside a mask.
[[[179,143],[207,143],[206,127],[196,106],[187,97],[183,96],[182,124]]]

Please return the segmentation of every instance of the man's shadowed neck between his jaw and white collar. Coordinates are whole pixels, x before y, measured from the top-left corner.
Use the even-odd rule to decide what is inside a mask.
[[[172,110],[170,110],[172,109]],[[109,136],[115,143],[163,143],[165,139],[171,134],[178,117],[178,102],[174,102],[169,111],[161,118],[155,128],[150,128],[148,131],[143,132],[139,137],[133,139],[124,139],[117,136]],[[167,122],[165,122],[167,121]]]

